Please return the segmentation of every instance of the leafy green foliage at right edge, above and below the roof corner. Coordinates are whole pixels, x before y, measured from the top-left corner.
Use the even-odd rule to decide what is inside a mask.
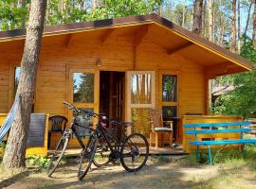
[[[256,62],[256,49],[252,41],[244,36],[244,45],[241,48],[241,56],[247,60]],[[222,80],[231,80],[235,89],[216,99],[212,111],[215,114],[242,115],[244,117],[256,117],[256,70],[229,77]]]

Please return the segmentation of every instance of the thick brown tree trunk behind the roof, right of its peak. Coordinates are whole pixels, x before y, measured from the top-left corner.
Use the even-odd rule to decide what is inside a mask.
[[[192,32],[201,34],[202,32],[202,14],[203,14],[203,0],[195,0],[193,8],[193,24]]]

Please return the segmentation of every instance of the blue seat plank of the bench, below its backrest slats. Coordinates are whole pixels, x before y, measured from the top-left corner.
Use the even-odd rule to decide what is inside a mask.
[[[218,141],[193,141],[191,145],[209,146],[209,145],[239,145],[256,144],[256,139],[237,139],[237,140],[218,140]]]

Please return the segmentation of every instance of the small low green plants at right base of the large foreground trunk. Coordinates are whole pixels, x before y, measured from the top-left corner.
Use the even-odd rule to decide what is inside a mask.
[[[49,165],[49,159],[46,157],[33,155],[27,158],[27,164],[28,166],[36,166],[39,169],[46,169]]]

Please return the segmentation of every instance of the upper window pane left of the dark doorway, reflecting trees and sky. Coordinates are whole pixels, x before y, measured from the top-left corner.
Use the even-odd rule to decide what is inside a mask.
[[[94,102],[94,75],[87,73],[73,74],[73,102]]]

